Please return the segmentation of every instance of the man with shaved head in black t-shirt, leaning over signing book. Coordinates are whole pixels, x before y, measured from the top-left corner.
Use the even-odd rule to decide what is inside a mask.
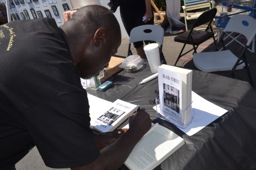
[[[15,20],[0,33],[0,169],[34,145],[52,168],[118,169],[151,119],[141,109],[121,135],[90,129],[80,77],[98,75],[117,52],[121,32],[112,12],[90,5],[59,28],[49,18]]]

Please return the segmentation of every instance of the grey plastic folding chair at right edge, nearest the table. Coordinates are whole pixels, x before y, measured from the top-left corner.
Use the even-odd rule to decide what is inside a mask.
[[[234,78],[234,70],[246,68],[250,84],[253,86],[248,62],[245,52],[256,35],[256,20],[248,15],[234,15],[232,16],[223,34],[216,45],[216,52],[202,52],[193,56],[195,66],[205,72],[231,70],[231,75]],[[247,43],[243,49],[239,51],[238,57],[230,50],[226,50],[223,37],[226,32],[240,33],[247,39]],[[224,50],[218,51],[218,46],[222,43]]]

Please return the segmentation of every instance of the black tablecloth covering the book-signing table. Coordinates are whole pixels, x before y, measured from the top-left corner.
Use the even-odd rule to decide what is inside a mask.
[[[90,94],[114,102],[121,99],[140,104],[153,122],[174,131],[185,144],[156,169],[256,169],[256,91],[249,83],[193,70],[194,92],[228,110],[226,114],[192,136],[156,117],[153,109],[158,79],[140,85],[153,75],[150,67],[113,77],[114,86],[105,92],[87,89]],[[125,169],[125,167],[121,167]]]

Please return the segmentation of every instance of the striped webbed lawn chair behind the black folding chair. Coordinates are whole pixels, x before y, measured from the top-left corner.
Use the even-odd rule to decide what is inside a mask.
[[[184,6],[182,6],[183,12],[184,12],[184,20],[185,20],[185,26],[186,31],[187,29],[187,20],[190,19],[196,19],[198,18],[202,13],[198,13],[195,15],[187,15],[187,11],[196,10],[196,9],[203,9],[203,8],[215,8],[215,1],[209,1],[209,0],[184,0]]]

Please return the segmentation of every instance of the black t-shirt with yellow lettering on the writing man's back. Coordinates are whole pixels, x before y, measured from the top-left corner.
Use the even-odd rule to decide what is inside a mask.
[[[87,92],[54,19],[0,26],[0,72],[1,157],[15,154],[4,153],[2,143],[9,135],[3,129],[12,127],[29,134],[47,166],[76,167],[97,159]]]

